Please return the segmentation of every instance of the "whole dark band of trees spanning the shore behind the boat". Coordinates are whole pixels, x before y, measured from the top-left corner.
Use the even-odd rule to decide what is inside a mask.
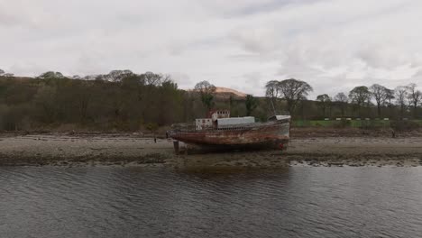
[[[232,116],[253,115],[265,121],[274,110],[294,120],[326,117],[420,118],[421,92],[415,84],[394,90],[373,85],[354,87],[334,97],[308,100],[313,88],[290,78],[272,80],[266,97],[216,94],[207,81],[194,90],[181,90],[170,76],[131,70],[105,75],[65,77],[49,71],[36,78],[18,78],[0,69],[0,130],[157,130],[173,123],[189,123],[213,108]]]

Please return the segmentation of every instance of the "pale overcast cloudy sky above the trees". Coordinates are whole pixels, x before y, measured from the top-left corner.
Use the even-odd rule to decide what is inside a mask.
[[[311,97],[422,86],[421,14],[420,0],[0,0],[0,69],[153,71],[255,96],[286,78]]]

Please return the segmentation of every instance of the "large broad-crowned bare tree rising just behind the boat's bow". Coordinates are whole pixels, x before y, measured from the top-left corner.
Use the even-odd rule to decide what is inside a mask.
[[[296,110],[298,102],[306,99],[309,92],[313,91],[313,88],[307,82],[295,78],[285,79],[277,83],[269,81],[265,87],[268,96],[280,96],[286,100],[290,114],[293,114]]]

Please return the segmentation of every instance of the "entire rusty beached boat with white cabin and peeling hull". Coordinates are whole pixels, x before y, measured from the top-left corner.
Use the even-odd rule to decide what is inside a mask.
[[[267,122],[256,123],[252,116],[230,117],[229,111],[217,110],[196,119],[195,124],[174,124],[168,133],[176,151],[179,142],[202,149],[285,149],[289,127],[289,115],[273,115]]]

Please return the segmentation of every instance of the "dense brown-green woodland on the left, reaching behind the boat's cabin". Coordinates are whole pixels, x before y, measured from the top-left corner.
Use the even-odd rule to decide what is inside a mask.
[[[202,85],[202,87],[201,87]],[[209,83],[181,90],[169,75],[113,70],[66,77],[48,71],[18,78],[0,71],[0,130],[138,131],[205,117],[211,108],[230,107],[234,116],[252,114],[258,99],[216,97]]]

